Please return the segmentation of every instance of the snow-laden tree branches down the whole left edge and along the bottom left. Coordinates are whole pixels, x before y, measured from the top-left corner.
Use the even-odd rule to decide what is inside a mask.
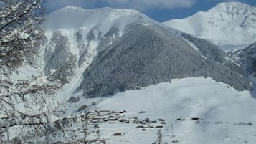
[[[53,143],[60,135],[65,143],[105,143],[87,138],[86,115],[60,117],[65,109],[54,94],[61,82],[43,73],[14,77],[37,57],[44,39],[41,5],[41,0],[0,1],[0,143],[37,143],[38,138]]]

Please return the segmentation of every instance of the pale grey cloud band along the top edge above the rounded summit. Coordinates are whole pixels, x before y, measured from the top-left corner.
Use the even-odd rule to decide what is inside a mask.
[[[174,9],[191,7],[199,0],[44,0],[47,9],[59,9],[63,6],[129,8],[140,11],[148,9]]]

